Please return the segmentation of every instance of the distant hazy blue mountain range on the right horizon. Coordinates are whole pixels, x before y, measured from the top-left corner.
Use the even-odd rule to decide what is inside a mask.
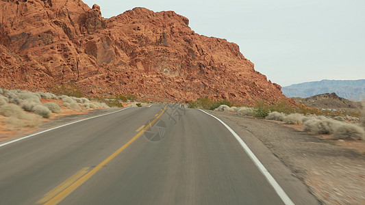
[[[318,94],[335,92],[342,98],[361,101],[365,98],[365,79],[355,81],[313,81],[281,87],[281,91],[289,98],[307,98]]]

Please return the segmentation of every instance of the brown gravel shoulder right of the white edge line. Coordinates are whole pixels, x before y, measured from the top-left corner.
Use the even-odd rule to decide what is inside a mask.
[[[286,192],[286,183],[291,179],[283,178],[285,170],[278,172],[275,166],[279,165],[275,165],[272,156],[286,165],[292,176],[304,182],[320,204],[365,204],[364,154],[279,122],[208,112],[242,137]],[[270,157],[262,154],[265,150],[272,153]],[[288,191],[288,195],[298,191]]]

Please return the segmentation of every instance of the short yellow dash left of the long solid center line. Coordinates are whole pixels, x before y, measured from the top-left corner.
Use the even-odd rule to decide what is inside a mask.
[[[58,185],[57,187],[55,187],[54,189],[49,191],[49,193],[46,193],[45,196],[42,197],[42,199],[40,199],[37,202],[37,204],[43,204],[43,203],[47,202],[48,200],[51,200],[51,198],[53,198],[55,195],[57,195],[58,193],[60,193],[64,189],[66,189],[68,186],[73,184],[73,182],[75,182],[76,180],[81,178],[81,176],[84,176],[89,170],[90,170],[90,167],[82,168],[81,170],[79,170],[79,172],[76,172],[76,174],[74,174],[70,178],[66,179],[60,185]]]

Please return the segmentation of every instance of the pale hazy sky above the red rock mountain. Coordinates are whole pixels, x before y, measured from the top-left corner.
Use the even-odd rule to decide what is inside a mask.
[[[365,79],[365,0],[84,0],[105,18],[135,7],[173,10],[204,36],[240,46],[255,70],[286,86]]]

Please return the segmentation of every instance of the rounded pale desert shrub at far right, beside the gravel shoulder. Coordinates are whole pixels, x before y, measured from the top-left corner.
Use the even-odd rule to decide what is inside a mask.
[[[365,140],[365,131],[359,125],[342,123],[334,130],[332,137],[334,139]]]

